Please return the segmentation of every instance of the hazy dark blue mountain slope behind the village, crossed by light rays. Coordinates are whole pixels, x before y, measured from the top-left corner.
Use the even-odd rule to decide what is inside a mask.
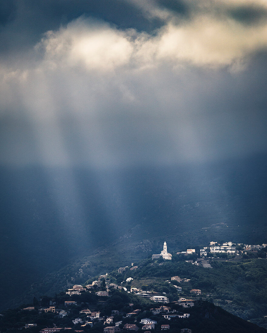
[[[146,256],[143,239],[156,252],[164,240],[171,251],[214,237],[266,242],[266,166],[254,156],[109,171],[2,168],[3,303],[99,247],[113,258],[116,242],[117,263]]]

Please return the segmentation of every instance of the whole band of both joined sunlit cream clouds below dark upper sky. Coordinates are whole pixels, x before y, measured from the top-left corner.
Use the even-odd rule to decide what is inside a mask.
[[[175,66],[184,62],[231,66],[267,47],[267,24],[243,25],[227,17],[200,14],[179,24],[171,20],[156,36],[150,36],[78,19],[47,33],[40,45],[50,66],[78,66],[100,72],[169,62]]]

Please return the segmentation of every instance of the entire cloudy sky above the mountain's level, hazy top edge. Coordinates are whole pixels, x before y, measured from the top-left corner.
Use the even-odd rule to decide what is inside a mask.
[[[0,6],[1,166],[108,169],[266,152],[266,1]]]

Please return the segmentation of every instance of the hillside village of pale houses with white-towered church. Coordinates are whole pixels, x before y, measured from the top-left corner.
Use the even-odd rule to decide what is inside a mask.
[[[249,252],[256,253],[265,249],[266,244],[237,244],[237,246],[238,250],[232,242],[220,245],[212,241],[207,247],[200,249],[200,258],[196,260],[188,259],[184,260],[184,262],[211,268],[212,266],[208,260],[204,260],[204,258],[208,259],[211,255],[220,253],[234,255],[235,257],[246,255]],[[187,259],[188,256],[197,255],[197,253],[195,249],[187,249],[187,251],[177,252],[177,255],[183,255]],[[160,259],[166,260],[166,262],[172,260],[172,255],[167,252],[166,242],[164,242],[161,254],[152,256],[150,265],[156,264],[160,269],[164,263]],[[36,322],[22,322],[21,320],[21,326],[17,324],[17,329],[23,328],[32,332],[48,333],[59,331],[89,332],[95,328],[95,332],[103,333],[138,330],[149,333],[162,330],[170,330],[171,332],[172,328],[179,327],[178,332],[192,332],[192,327],[188,326],[187,321],[192,315],[192,308],[195,304],[199,304],[202,299],[201,289],[188,288],[191,279],[178,275],[170,276],[169,279],[164,281],[163,284],[165,286],[169,285],[169,287],[165,287],[166,291],[157,292],[153,288],[150,289],[149,285],[137,288],[133,282],[135,282],[138,271],[139,266],[131,263],[130,266],[119,267],[117,271],[99,275],[97,279],[90,281],[90,283],[85,283],[84,285],[75,284],[54,299],[44,297],[39,302],[35,300],[33,306],[19,309],[19,314],[23,314],[23,318],[50,316],[48,318],[51,319],[52,325],[41,327],[42,321],[40,320],[39,322],[37,320]],[[122,274],[125,274],[125,280],[120,282]],[[188,296],[190,295],[190,297],[181,296],[184,293],[184,288],[186,290],[185,293]],[[170,294],[172,296],[171,300],[168,298],[167,290],[169,294],[172,292]],[[126,303],[125,301],[122,304],[120,302],[118,307],[116,307],[116,302],[113,299],[119,297],[119,295],[124,295],[125,300],[131,299],[132,302]],[[177,296],[174,297],[174,295]],[[207,296],[209,295],[206,294],[205,297]],[[114,307],[110,307],[109,304],[110,306],[114,304]],[[135,304],[137,304],[137,308],[135,308]],[[0,319],[3,316],[1,314]],[[59,327],[55,321],[60,322],[60,320],[62,320],[62,323],[69,323],[71,320],[71,327]],[[46,321],[43,322],[47,324]],[[184,323],[183,327],[180,327],[182,322]],[[12,328],[14,329],[14,327],[10,327],[10,329]],[[5,331],[3,330],[3,332]]]

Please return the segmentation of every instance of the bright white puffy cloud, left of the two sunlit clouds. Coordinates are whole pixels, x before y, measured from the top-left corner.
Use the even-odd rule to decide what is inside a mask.
[[[58,66],[111,71],[129,62],[132,44],[128,39],[125,32],[107,24],[78,19],[59,31],[49,31],[38,47],[44,47],[46,61]]]

